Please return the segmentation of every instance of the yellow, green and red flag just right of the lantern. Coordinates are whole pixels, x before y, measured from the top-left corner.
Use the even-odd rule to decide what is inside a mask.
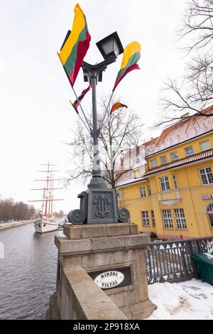
[[[141,58],[141,44],[138,42],[132,42],[126,46],[124,49],[123,60],[121,64],[121,68],[119,73],[116,77],[116,82],[113,87],[113,92],[116,89],[119,82],[127,75],[127,73],[131,72],[132,70],[140,70],[139,66],[137,65],[138,60]]]

